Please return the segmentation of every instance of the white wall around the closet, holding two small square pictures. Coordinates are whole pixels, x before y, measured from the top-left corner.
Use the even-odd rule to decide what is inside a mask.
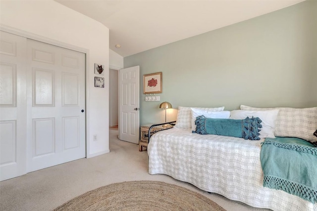
[[[109,152],[109,29],[53,0],[1,0],[0,4],[2,27],[87,49],[87,157]],[[94,63],[105,65],[105,88],[94,86]]]

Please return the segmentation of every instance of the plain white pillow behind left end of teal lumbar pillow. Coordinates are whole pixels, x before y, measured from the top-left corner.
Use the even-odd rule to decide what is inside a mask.
[[[192,130],[196,130],[195,120],[196,117],[204,115],[206,118],[213,119],[229,119],[230,111],[208,111],[198,108],[191,108],[192,110]]]

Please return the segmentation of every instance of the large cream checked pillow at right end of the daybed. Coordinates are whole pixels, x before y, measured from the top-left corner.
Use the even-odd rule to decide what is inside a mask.
[[[241,110],[264,111],[278,109],[274,134],[281,137],[296,137],[317,144],[314,132],[317,129],[317,107],[313,108],[254,108],[241,105]]]

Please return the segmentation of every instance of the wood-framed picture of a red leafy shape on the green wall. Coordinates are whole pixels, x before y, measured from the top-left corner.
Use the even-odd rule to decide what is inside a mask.
[[[143,75],[143,93],[162,93],[162,72]]]

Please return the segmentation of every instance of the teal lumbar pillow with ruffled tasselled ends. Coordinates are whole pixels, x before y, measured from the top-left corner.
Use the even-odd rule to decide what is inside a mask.
[[[233,136],[249,140],[260,140],[259,131],[261,131],[261,120],[259,117],[244,120],[233,119],[211,119],[204,116],[196,118],[196,130],[193,133],[202,135],[214,134]]]

